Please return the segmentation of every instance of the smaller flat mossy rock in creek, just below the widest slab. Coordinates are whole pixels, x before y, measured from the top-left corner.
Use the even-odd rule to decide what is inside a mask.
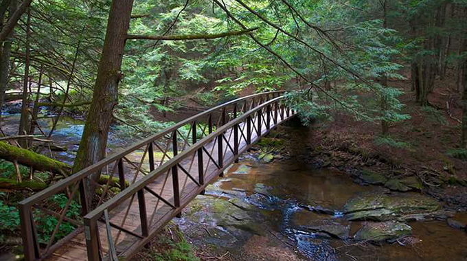
[[[365,223],[365,225],[356,232],[354,239],[365,241],[384,241],[397,240],[404,236],[412,234],[412,228],[405,223],[383,222],[383,223]]]

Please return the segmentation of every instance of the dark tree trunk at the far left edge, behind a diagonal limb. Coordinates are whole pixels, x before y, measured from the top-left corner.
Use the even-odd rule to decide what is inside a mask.
[[[16,11],[16,0],[10,2],[10,16]],[[13,42],[12,30],[8,35],[8,38],[3,42],[3,49],[0,54],[0,109],[5,99],[5,91],[8,87],[8,75],[10,73],[10,56]],[[1,45],[0,45],[1,46]]]

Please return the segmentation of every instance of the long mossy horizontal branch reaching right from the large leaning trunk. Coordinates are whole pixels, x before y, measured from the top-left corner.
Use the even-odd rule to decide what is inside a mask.
[[[234,31],[223,32],[220,34],[187,34],[187,35],[173,35],[173,36],[146,36],[146,35],[127,35],[127,39],[144,39],[144,40],[157,40],[157,41],[183,41],[183,40],[198,40],[198,39],[215,39],[223,38],[226,36],[239,36],[243,34],[251,34],[251,32],[258,30],[258,27]]]

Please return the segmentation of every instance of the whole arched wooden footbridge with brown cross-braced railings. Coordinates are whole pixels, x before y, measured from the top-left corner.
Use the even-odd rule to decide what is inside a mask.
[[[293,117],[283,94],[260,93],[216,106],[21,201],[25,260],[132,258],[242,152]],[[125,189],[109,189],[113,179],[106,185],[89,179],[99,172],[118,177]],[[100,195],[89,198],[89,185]],[[66,196],[66,204],[51,207],[57,195]],[[71,216],[69,209],[77,205],[82,215]],[[44,216],[56,217],[53,229],[38,224]]]

